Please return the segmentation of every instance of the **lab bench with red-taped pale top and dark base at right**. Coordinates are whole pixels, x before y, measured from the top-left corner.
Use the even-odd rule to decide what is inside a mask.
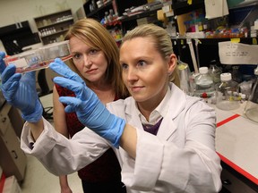
[[[217,113],[216,151],[221,159],[223,193],[258,192],[258,123],[245,117],[246,102]]]

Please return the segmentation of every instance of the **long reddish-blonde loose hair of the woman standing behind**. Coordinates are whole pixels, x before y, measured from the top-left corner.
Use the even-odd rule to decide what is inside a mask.
[[[82,19],[76,21],[65,35],[65,40],[72,37],[79,38],[86,45],[103,51],[107,58],[107,71],[105,72],[106,81],[115,89],[116,96],[125,98],[129,96],[127,88],[122,80],[121,66],[119,64],[119,49],[115,39],[105,29],[99,21],[94,19]],[[73,71],[81,75],[72,60],[70,67]],[[82,77],[82,76],[81,76]],[[86,80],[82,77],[87,83]]]

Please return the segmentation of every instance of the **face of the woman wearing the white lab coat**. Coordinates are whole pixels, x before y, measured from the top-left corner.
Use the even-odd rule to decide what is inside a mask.
[[[120,48],[123,80],[135,101],[154,108],[168,88],[168,74],[174,71],[176,55],[164,59],[151,38],[133,38]]]

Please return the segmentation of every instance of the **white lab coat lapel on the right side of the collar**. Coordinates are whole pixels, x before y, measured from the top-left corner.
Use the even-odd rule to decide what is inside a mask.
[[[177,88],[176,85],[170,84],[171,97],[169,99],[168,113],[163,117],[160,124],[157,137],[168,140],[177,129],[177,124],[174,122],[176,116],[185,108],[185,93]]]

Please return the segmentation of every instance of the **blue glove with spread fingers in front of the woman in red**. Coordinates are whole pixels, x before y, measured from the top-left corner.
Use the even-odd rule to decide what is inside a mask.
[[[119,141],[125,128],[125,120],[109,113],[98,96],[86,86],[84,80],[68,68],[59,58],[50,63],[50,69],[64,77],[56,77],[54,82],[61,87],[72,90],[76,97],[61,96],[61,103],[66,104],[65,112],[76,112],[82,124],[95,131],[102,138],[109,140],[114,147],[119,147]]]

